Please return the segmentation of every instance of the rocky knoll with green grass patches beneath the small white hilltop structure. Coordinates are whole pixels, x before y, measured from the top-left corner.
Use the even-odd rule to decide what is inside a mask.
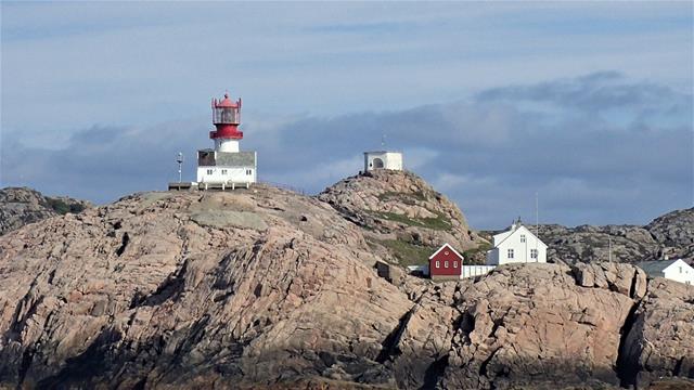
[[[374,252],[401,265],[425,263],[444,243],[467,251],[466,257],[489,247],[455,204],[411,172],[347,178],[318,198],[362,227]]]

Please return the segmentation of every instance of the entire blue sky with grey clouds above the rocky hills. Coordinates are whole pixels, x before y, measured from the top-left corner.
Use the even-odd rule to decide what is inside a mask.
[[[2,1],[0,186],[98,204],[194,180],[243,99],[259,180],[314,194],[362,152],[475,229],[645,224],[694,204],[693,2]]]

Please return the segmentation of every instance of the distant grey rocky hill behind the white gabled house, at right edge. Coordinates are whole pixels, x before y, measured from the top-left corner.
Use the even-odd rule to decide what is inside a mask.
[[[606,225],[564,227],[540,225],[548,259],[568,263],[612,260],[639,262],[669,256],[694,259],[694,208],[658,217],[645,226]]]

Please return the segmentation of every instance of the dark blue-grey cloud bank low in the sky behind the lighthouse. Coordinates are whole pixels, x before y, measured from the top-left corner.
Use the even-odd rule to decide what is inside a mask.
[[[316,193],[362,169],[361,153],[385,134],[474,227],[532,221],[536,193],[541,222],[646,223],[692,205],[692,101],[691,91],[602,72],[400,110],[248,114],[242,147],[258,151],[260,179]],[[209,145],[207,121],[94,126],[52,150],[10,134],[2,181],[97,202],[164,188],[179,150],[192,179],[195,148]]]

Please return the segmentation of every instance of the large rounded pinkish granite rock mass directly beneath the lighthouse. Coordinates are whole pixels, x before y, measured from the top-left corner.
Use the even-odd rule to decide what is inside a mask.
[[[211,210],[226,212],[195,219]],[[376,358],[412,302],[368,249],[330,206],[269,187],[144,194],[26,226],[0,239],[0,382],[389,385]]]

